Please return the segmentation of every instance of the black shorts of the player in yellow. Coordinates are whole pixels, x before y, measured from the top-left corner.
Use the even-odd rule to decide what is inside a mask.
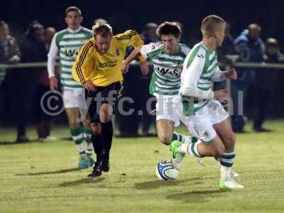
[[[122,88],[121,82],[114,82],[106,87],[97,87],[96,91],[88,91],[85,89],[85,97],[91,123],[99,121],[99,109],[102,104],[111,105],[115,111]]]

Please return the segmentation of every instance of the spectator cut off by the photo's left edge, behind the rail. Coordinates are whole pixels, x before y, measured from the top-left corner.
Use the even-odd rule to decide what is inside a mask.
[[[20,60],[20,52],[15,38],[9,35],[9,26],[5,21],[0,21],[0,64],[16,63]],[[12,71],[12,70],[10,70]],[[12,71],[13,72],[13,71]],[[0,68],[0,117],[4,115],[5,109],[9,109],[8,102],[11,84],[11,72],[7,75],[6,70]],[[4,80],[5,79],[5,80]],[[3,84],[2,84],[3,82]],[[4,92],[5,89],[5,92]]]

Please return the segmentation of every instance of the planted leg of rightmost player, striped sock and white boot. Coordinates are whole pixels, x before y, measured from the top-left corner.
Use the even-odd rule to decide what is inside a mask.
[[[238,182],[232,179],[232,166],[234,164],[235,159],[235,141],[236,136],[231,129],[231,122],[229,119],[225,119],[224,121],[220,122],[219,124],[214,124],[214,129],[219,134],[220,138],[225,146],[224,154],[220,156],[220,187],[225,188],[238,188],[241,189],[244,186],[240,185]]]

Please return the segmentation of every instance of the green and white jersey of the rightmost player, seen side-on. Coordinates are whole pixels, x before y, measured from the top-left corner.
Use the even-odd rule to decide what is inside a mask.
[[[219,70],[216,50],[210,51],[202,43],[190,50],[183,64],[180,87],[185,116],[194,115],[214,98],[212,82],[225,80],[224,73]]]

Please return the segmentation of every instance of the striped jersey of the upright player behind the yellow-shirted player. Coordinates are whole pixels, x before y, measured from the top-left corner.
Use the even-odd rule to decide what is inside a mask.
[[[60,82],[63,89],[83,88],[80,83],[73,79],[71,72],[72,65],[75,62],[75,58],[79,53],[80,48],[90,38],[92,38],[92,31],[81,26],[76,31],[67,28],[54,35],[50,46],[50,52],[48,53],[48,63],[50,62],[50,58],[56,57],[59,52]],[[49,77],[54,75],[52,67],[54,67],[54,65],[48,64]]]

